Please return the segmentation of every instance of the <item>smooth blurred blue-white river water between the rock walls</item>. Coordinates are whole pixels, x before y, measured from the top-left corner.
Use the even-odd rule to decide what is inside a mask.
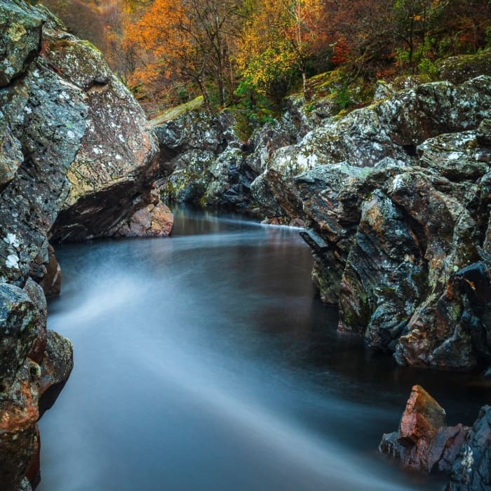
[[[48,327],[75,367],[41,419],[39,491],[440,490],[377,452],[412,384],[471,423],[469,375],[336,332],[297,229],[176,210],[170,238],[57,249]]]

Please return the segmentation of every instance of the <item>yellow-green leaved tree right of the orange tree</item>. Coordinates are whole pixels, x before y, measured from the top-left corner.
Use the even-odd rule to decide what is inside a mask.
[[[245,84],[267,93],[290,72],[300,72],[307,94],[307,62],[322,38],[321,0],[256,0],[250,4],[237,55]]]

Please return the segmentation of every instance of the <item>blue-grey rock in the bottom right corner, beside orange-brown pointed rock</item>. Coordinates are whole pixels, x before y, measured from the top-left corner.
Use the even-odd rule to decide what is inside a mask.
[[[491,406],[480,410],[455,459],[445,491],[489,491],[491,487]]]

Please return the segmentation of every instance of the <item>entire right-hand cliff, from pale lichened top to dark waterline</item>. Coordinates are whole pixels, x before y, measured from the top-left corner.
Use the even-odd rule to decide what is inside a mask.
[[[311,223],[314,281],[339,303],[339,329],[398,363],[490,363],[490,97],[480,76],[354,111],[305,137],[300,149],[314,143],[316,167],[282,191],[283,209],[301,205]]]

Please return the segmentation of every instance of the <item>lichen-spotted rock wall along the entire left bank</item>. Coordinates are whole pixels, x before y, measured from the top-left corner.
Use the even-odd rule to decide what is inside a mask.
[[[39,482],[37,420],[73,365],[46,330],[48,239],[166,235],[172,215],[156,137],[93,46],[18,0],[0,1],[0,46],[0,487],[18,491]]]

